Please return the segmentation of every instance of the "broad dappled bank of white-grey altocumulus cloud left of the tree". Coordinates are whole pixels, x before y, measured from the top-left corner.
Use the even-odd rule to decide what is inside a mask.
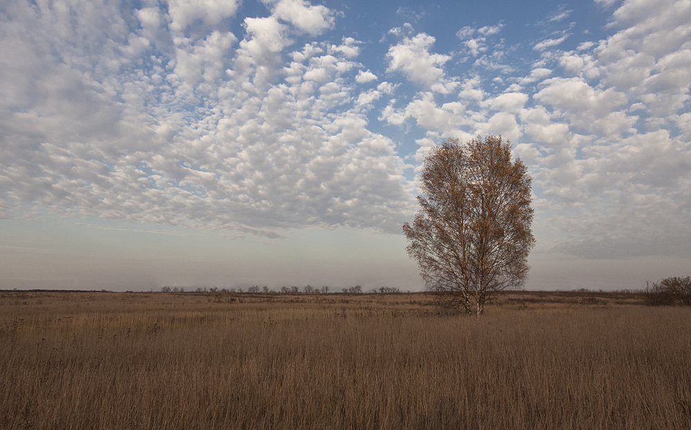
[[[357,75],[359,42],[294,46],[332,12],[267,6],[239,41],[232,1],[6,6],[3,216],[397,231],[410,195],[394,142],[352,103],[376,79]]]

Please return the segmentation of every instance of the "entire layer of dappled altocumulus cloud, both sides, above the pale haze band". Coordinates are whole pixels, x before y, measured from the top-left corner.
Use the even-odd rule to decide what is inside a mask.
[[[520,40],[417,28],[431,9],[360,38],[347,8],[255,6],[3,3],[0,216],[398,232],[433,144],[501,133],[538,251],[691,253],[688,1],[598,0],[599,38],[558,8]]]

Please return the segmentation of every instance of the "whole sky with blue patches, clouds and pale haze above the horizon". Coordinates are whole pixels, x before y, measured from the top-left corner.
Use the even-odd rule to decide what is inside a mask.
[[[0,2],[0,288],[422,290],[444,138],[533,176],[528,290],[690,274],[691,1]]]

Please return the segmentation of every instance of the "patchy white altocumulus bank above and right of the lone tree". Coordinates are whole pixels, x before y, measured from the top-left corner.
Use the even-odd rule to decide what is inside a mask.
[[[498,38],[500,24],[484,32],[465,26],[457,32],[460,53],[468,48],[476,57],[465,73],[442,70],[451,59],[431,52],[420,57],[437,82],[407,71],[426,88],[451,82],[460,91],[393,100],[381,120],[424,131],[417,162],[446,135],[465,140],[474,133],[501,133],[518,142],[515,153],[534,176],[539,250],[587,258],[688,256],[690,23],[686,1],[665,1],[654,9],[626,1],[607,24],[610,36],[559,49],[569,25],[562,37],[527,42],[538,47],[538,57],[526,65],[509,57]],[[406,35],[389,51],[390,68],[405,71],[398,53],[431,50],[432,41],[424,33]]]

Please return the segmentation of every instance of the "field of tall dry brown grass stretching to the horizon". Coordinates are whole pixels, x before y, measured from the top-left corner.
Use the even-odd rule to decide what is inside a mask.
[[[0,292],[1,429],[691,429],[691,309]]]

